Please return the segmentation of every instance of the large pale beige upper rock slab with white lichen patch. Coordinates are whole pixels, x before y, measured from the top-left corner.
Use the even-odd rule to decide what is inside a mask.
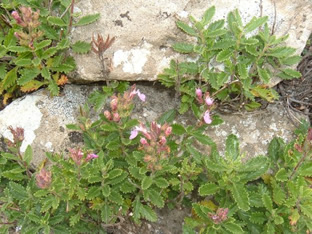
[[[172,0],[172,1],[101,1],[85,0],[76,4],[76,11],[82,15],[101,13],[99,21],[92,25],[75,28],[72,40],[91,41],[93,34],[108,34],[117,39],[105,55],[112,59],[113,71],[109,79],[156,80],[157,74],[168,66],[171,59],[178,57],[171,45],[185,40],[185,34],[177,29],[175,22],[188,21],[188,15],[201,18],[210,6],[216,6],[213,20],[225,18],[229,11],[239,9],[243,21],[253,16],[269,16],[269,26],[276,35],[289,33],[288,46],[303,50],[312,32],[312,2],[309,0],[230,1],[230,0]],[[276,12],[276,14],[275,14]],[[275,23],[274,23],[275,22]],[[90,52],[74,55],[77,73],[75,82],[104,80],[97,56]]]

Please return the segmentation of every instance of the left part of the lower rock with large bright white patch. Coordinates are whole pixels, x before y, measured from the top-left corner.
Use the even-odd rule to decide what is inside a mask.
[[[67,130],[66,124],[76,122],[79,106],[91,90],[88,86],[67,85],[59,97],[51,98],[46,90],[40,90],[19,98],[0,112],[0,135],[12,140],[8,127],[23,128],[21,151],[31,145],[33,164],[38,166],[45,152],[63,152],[82,141],[81,134]]]

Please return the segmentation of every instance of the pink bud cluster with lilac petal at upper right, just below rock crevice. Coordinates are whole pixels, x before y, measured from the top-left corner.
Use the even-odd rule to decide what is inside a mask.
[[[131,89],[121,95],[114,95],[110,102],[111,111],[105,110],[106,119],[119,122],[121,118],[128,117],[133,109],[132,99],[137,95],[142,102],[145,102],[145,95],[136,88],[135,85]]]

